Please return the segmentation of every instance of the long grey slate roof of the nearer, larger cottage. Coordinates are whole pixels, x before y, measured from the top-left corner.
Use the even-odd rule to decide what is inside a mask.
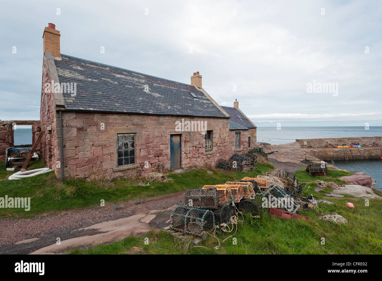
[[[63,93],[66,110],[227,118],[194,86],[68,55],[61,58],[55,60],[60,83],[76,83],[76,96]]]

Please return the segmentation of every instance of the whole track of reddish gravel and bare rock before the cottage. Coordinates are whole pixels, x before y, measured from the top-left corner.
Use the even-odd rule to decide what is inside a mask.
[[[134,201],[105,203],[102,208],[69,210],[36,219],[2,219],[0,253],[28,254],[36,250],[36,253],[57,253],[71,247],[111,242],[131,233],[144,233],[150,227],[161,228],[168,225],[171,210],[183,203],[184,194],[182,191],[163,195],[139,205],[134,205]],[[116,205],[121,208],[114,210],[112,207]],[[56,244],[58,237],[60,245]]]

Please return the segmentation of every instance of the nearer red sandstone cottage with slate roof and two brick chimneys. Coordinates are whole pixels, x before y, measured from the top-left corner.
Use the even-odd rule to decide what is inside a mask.
[[[54,24],[43,40],[41,153],[58,179],[215,165],[248,148],[249,127],[230,121],[199,72],[189,85],[63,55]]]

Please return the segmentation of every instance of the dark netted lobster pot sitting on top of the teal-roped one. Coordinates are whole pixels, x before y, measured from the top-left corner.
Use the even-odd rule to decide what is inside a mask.
[[[216,209],[219,206],[219,195],[216,188],[187,189],[185,206]]]

